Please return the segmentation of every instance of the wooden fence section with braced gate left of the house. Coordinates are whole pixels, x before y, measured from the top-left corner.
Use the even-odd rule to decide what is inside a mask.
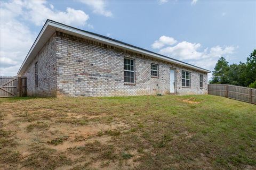
[[[27,96],[26,77],[0,77],[0,97]]]

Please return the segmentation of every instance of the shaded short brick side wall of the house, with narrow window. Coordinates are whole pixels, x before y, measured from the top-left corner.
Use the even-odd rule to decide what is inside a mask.
[[[29,64],[22,76],[27,77],[28,96],[57,96],[55,33]],[[38,87],[35,86],[35,63],[38,65]]]

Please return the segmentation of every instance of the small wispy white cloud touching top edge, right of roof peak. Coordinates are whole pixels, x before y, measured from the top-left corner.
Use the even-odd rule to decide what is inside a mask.
[[[79,2],[84,3],[90,6],[93,9],[93,12],[96,14],[104,15],[104,16],[112,16],[111,11],[106,10],[106,2],[102,0],[92,1],[92,0],[79,0]]]

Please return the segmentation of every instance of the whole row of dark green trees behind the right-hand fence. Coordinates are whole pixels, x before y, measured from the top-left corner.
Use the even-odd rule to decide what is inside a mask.
[[[231,84],[256,88],[256,49],[247,57],[245,63],[228,64],[220,57],[212,72],[210,84]]]

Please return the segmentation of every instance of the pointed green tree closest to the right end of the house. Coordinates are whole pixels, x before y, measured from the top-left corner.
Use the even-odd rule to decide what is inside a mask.
[[[220,57],[212,72],[213,77],[210,84],[229,84],[228,71],[228,62],[224,57]]]

